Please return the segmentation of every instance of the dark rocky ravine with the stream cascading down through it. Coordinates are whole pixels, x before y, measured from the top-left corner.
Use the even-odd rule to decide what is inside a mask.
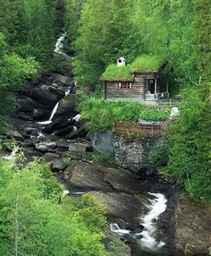
[[[62,54],[61,41],[56,47]],[[6,136],[19,141],[28,161],[42,157],[50,162],[65,193],[95,194],[105,205],[111,229],[131,244],[131,255],[208,255],[210,209],[194,206],[181,189],[157,183],[153,175],[141,181],[127,169],[84,158],[90,141],[77,104],[70,70],[29,81]],[[61,158],[70,153],[72,160],[64,163]]]

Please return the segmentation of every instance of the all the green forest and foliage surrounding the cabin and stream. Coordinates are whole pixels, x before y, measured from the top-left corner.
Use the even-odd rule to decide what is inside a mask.
[[[61,28],[64,49],[74,53],[79,109],[90,131],[112,129],[114,120],[166,120],[169,110],[149,113],[137,103],[99,99],[100,77],[120,56],[127,64],[139,55],[165,58],[172,97],[181,97],[180,116],[151,152],[152,162],[180,179],[194,201],[210,204],[210,0],[0,0],[1,132],[10,128],[26,81],[55,70]],[[21,158],[11,166],[0,159],[0,255],[117,256],[102,243],[105,209],[94,197],[64,198],[45,162],[24,166]]]

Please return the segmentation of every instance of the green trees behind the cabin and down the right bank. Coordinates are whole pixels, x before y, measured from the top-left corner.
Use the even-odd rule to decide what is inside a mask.
[[[84,0],[77,5],[66,0],[67,17],[71,4],[75,13],[72,21],[66,20],[66,27],[72,30],[70,24],[76,24],[70,35],[79,84],[93,90],[105,67],[120,56],[127,63],[140,54],[165,57],[171,88],[183,100],[181,116],[170,125],[165,149],[162,143],[158,145],[166,158],[160,163],[181,178],[195,198],[210,198],[210,1]]]

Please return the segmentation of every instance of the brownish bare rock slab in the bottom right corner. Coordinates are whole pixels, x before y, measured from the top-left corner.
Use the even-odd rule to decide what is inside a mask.
[[[211,208],[194,204],[182,193],[179,197],[172,226],[175,227],[174,246],[178,255],[211,255]]]

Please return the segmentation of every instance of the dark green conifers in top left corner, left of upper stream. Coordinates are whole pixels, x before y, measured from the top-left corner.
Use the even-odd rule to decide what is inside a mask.
[[[46,63],[55,44],[54,5],[49,1],[0,1],[0,29],[22,56]]]

